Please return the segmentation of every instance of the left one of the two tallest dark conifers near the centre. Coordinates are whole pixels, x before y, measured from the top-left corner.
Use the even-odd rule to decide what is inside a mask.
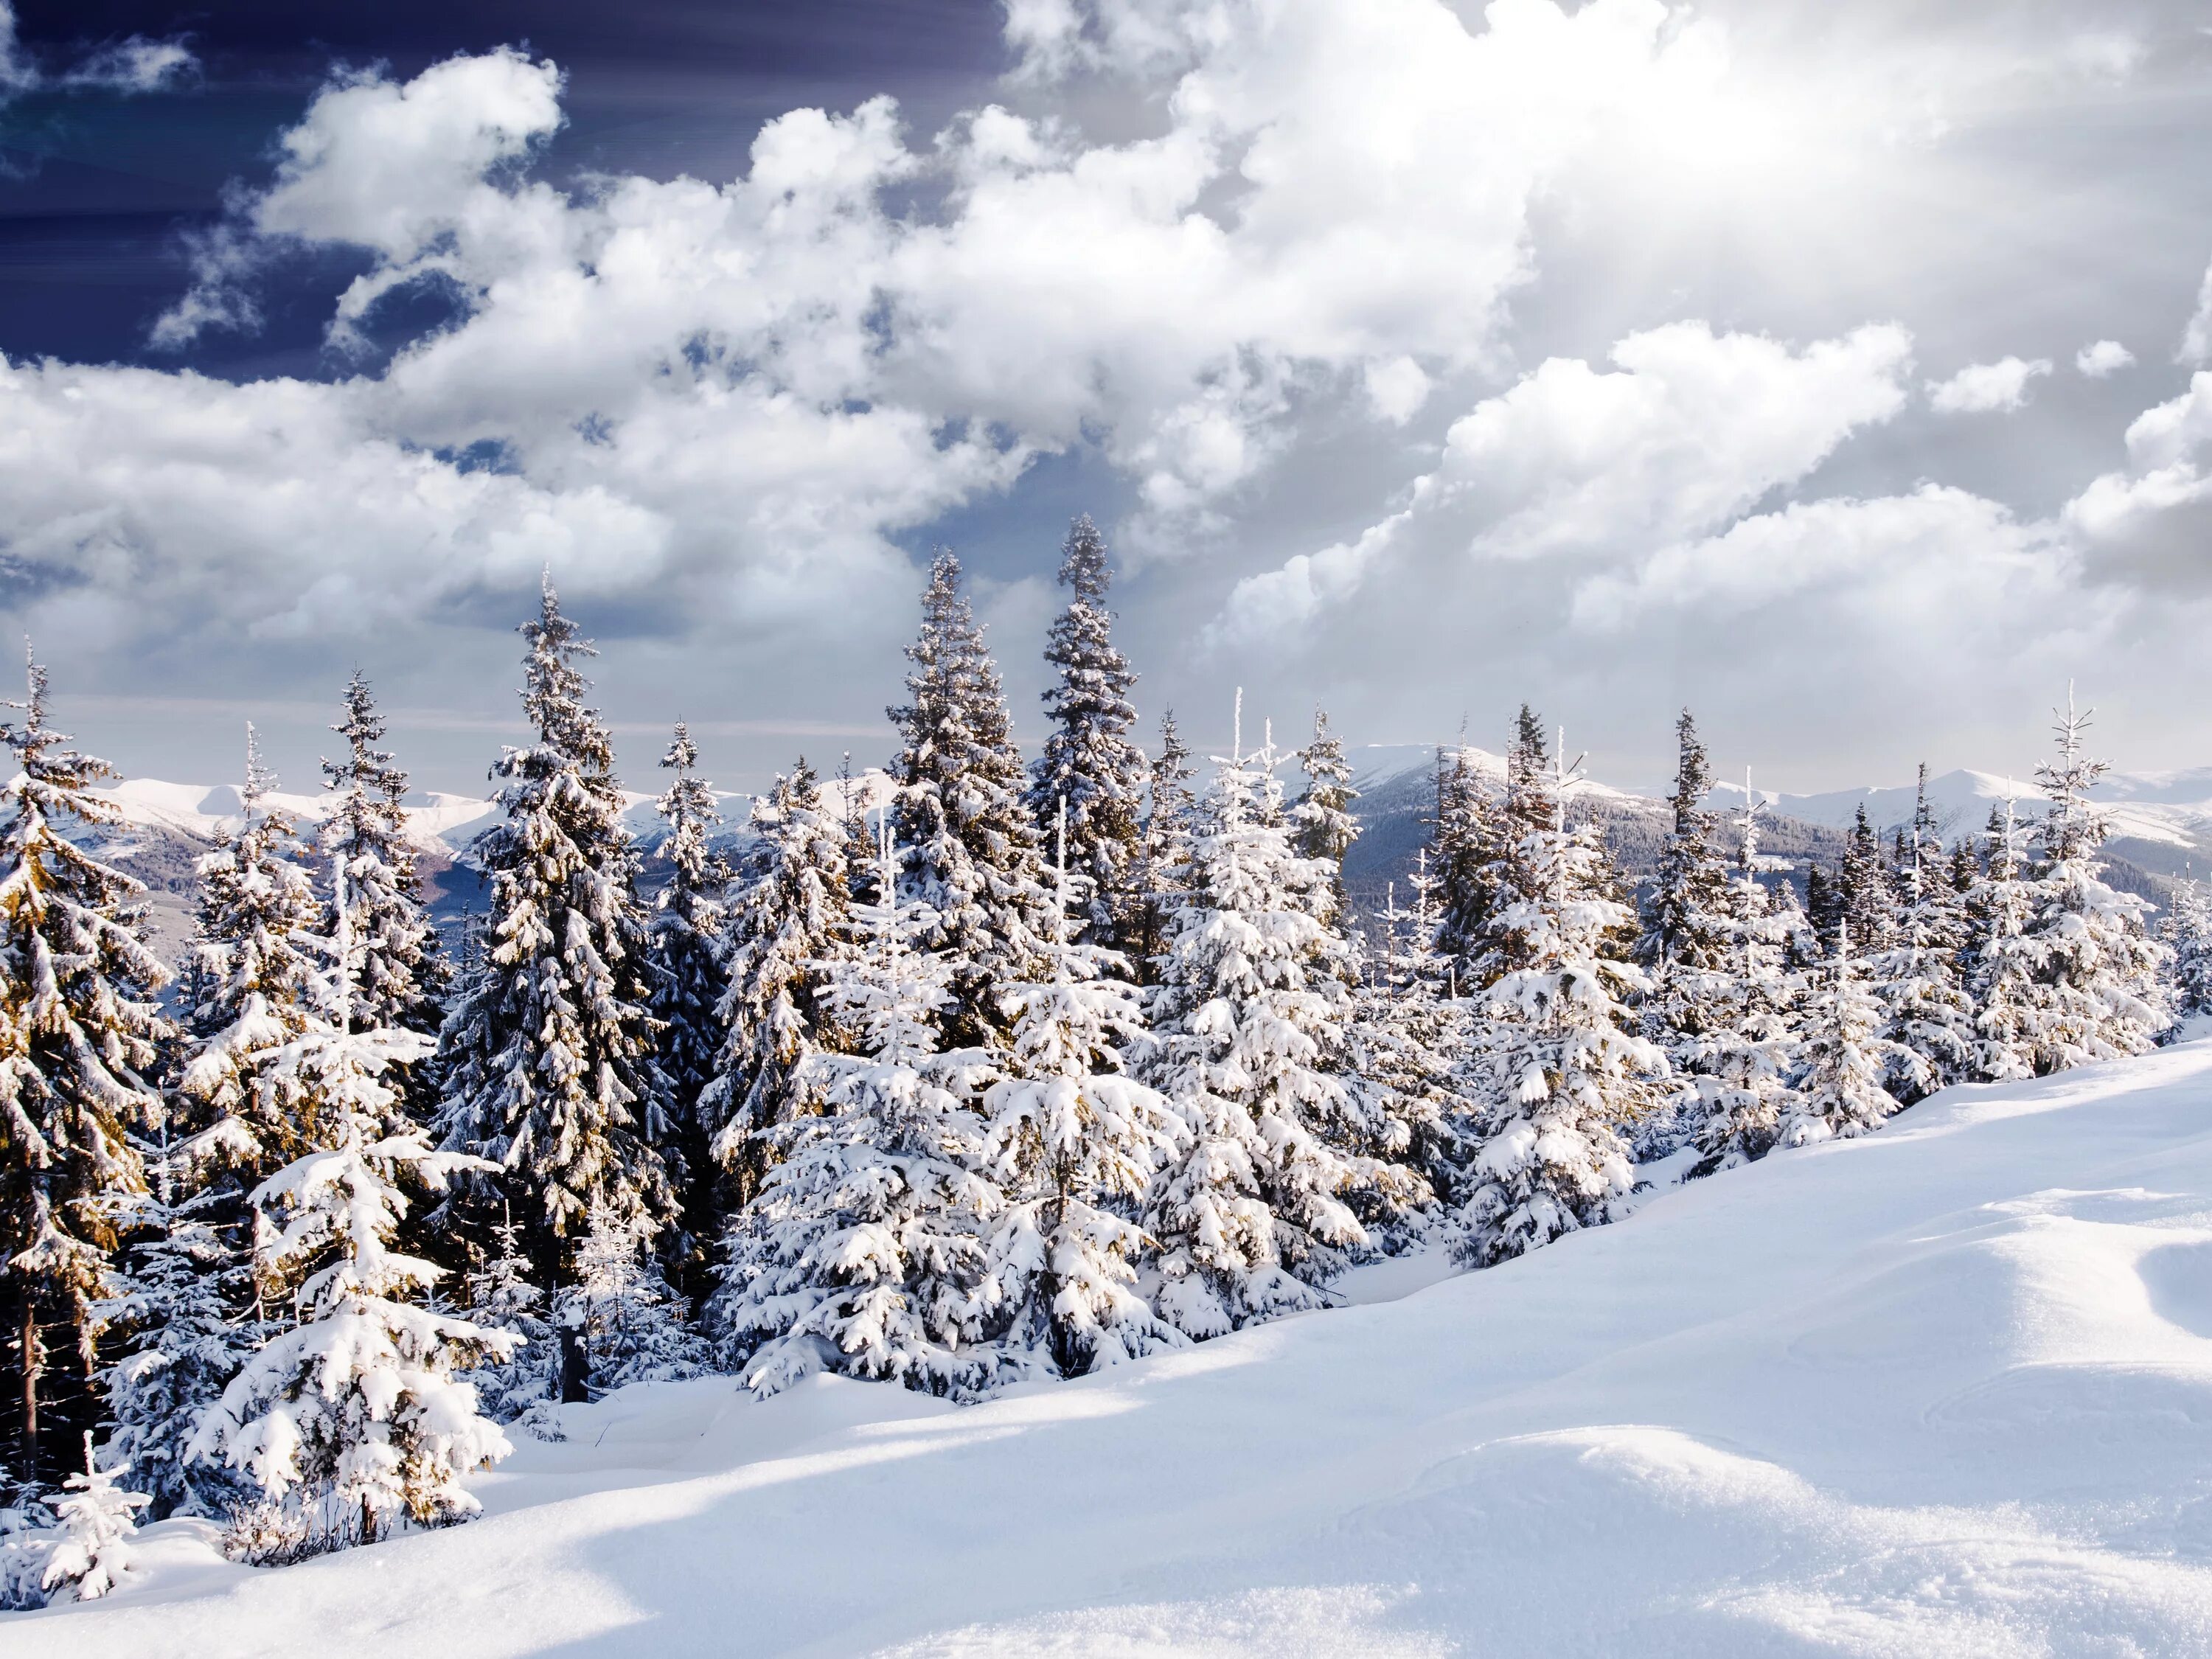
[[[1002,1046],[1000,993],[1035,971],[1048,900],[1006,697],[951,553],[929,566],[907,659],[911,701],[889,710],[905,739],[891,768],[891,827],[907,849],[900,887],[927,918],[922,949],[951,967],[947,1037]]]

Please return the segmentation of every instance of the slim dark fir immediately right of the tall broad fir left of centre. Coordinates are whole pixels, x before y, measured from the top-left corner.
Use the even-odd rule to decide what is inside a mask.
[[[659,1022],[659,1066],[668,1084],[668,1164],[681,1181],[684,1254],[706,1265],[703,1245],[719,1232],[714,1126],[701,1095],[712,1086],[726,1046],[721,1002],[730,989],[721,964],[723,891],[730,865],[712,847],[721,823],[714,792],[697,774],[699,745],[677,721],[661,765],[675,772],[655,803],[668,834],[659,860],[668,883],[653,902],[648,960],[653,1018]]]

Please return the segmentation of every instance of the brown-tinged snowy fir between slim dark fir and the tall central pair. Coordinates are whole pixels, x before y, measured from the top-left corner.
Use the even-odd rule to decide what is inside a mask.
[[[728,1037],[701,1095],[739,1208],[761,1188],[763,1135],[803,1108],[807,1057],[838,1046],[823,989],[852,920],[845,827],[805,761],[754,805],[752,832],[721,940],[728,989],[717,1020]]]

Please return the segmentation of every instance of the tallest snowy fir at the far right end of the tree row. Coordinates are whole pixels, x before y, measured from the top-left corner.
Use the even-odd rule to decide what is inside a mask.
[[[2148,1053],[2172,1024],[2166,951],[2150,938],[2150,902],[2104,880],[2097,849],[2110,836],[2090,790],[2110,770],[2084,748],[2088,712],[2068,688],[2057,712],[2055,761],[2035,768],[2051,807],[2037,825],[2037,907],[2028,936],[2042,947],[2044,1002],[2037,1073]]]

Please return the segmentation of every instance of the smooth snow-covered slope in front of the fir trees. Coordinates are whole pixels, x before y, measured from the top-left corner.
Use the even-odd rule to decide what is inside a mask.
[[[1431,1272],[973,1409],[633,1389],[471,1526],[246,1571],[168,1524],[0,1650],[2212,1652],[2212,1042]]]

